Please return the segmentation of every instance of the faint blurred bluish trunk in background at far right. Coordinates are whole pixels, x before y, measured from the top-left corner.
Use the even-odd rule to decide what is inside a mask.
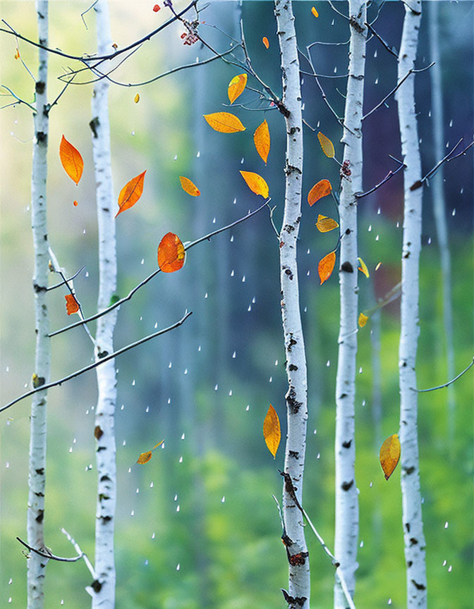
[[[439,3],[432,2],[428,10],[430,25],[430,56],[435,65],[430,70],[433,138],[435,140],[435,159],[439,161],[445,154],[444,149],[444,109],[442,93],[441,62],[439,57]],[[443,166],[431,178],[433,211],[435,214],[436,235],[441,259],[441,282],[443,295],[443,326],[446,341],[446,375],[453,379],[454,344],[453,344],[453,307],[451,304],[451,254],[449,252],[448,228],[446,226],[446,199],[444,197]],[[456,402],[454,383],[447,388],[448,403],[448,447],[452,453],[454,445],[454,416]]]

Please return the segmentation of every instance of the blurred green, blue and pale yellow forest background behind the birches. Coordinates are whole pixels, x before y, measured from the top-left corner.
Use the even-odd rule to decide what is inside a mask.
[[[159,25],[165,11],[152,2],[111,2],[112,36],[119,47]],[[312,4],[319,11],[315,19]],[[427,13],[423,3],[417,67],[430,63]],[[95,49],[95,21],[80,13],[86,2],[51,2],[50,45],[81,54]],[[181,7],[181,4],[177,6]],[[182,4],[184,6],[184,4]],[[338,3],[338,6],[345,6]],[[474,6],[441,2],[439,51],[447,149],[473,134]],[[323,2],[296,2],[300,47],[315,40],[348,39],[345,20]],[[32,39],[36,37],[31,2],[2,2],[1,16]],[[271,2],[243,3],[245,35],[259,73],[276,91],[281,87],[279,53]],[[214,2],[203,13],[208,24],[238,38],[238,4]],[[403,6],[388,2],[377,32],[399,47]],[[156,25],[154,25],[156,22]],[[152,25],[150,25],[152,24]],[[183,46],[182,26],[134,54],[115,73],[121,82],[152,78],[174,66],[193,63],[205,52]],[[201,34],[226,49],[219,30],[203,25]],[[269,49],[262,37],[269,39]],[[15,60],[13,37],[0,37],[1,82],[25,99],[32,81]],[[35,49],[21,45],[34,73]],[[377,51],[377,53],[375,53]],[[317,46],[320,73],[343,75],[344,46]],[[49,97],[61,90],[55,80],[64,66],[50,57]],[[256,209],[261,199],[248,190],[239,169],[257,171],[270,186],[275,217],[281,218],[284,188],[284,122],[277,111],[235,112],[247,130],[235,135],[214,132],[202,115],[225,109],[226,89],[236,69],[214,61],[167,76],[146,87],[112,86],[111,149],[116,195],[145,169],[145,189],[133,210],[117,219],[120,296],[126,295],[156,266],[159,240],[169,230],[193,240]],[[304,69],[304,68],[303,68]],[[367,44],[365,111],[396,82],[396,61],[372,38]],[[417,75],[416,96],[423,169],[435,156],[430,116],[430,70]],[[328,84],[329,83],[329,84]],[[338,84],[339,83],[339,84]],[[326,93],[342,113],[344,79],[324,81]],[[95,311],[97,295],[97,226],[95,180],[90,145],[92,85],[71,86],[51,112],[49,135],[49,238],[70,273],[85,265],[75,289],[85,312]],[[139,92],[140,101],[135,103]],[[253,99],[246,92],[245,99]],[[338,144],[341,129],[310,78],[303,85],[304,117]],[[1,98],[5,99],[5,98]],[[1,105],[4,105],[3,103]],[[400,158],[396,104],[388,101],[364,124],[364,187],[378,183]],[[251,134],[267,118],[272,149],[265,168]],[[34,315],[31,290],[30,168],[32,119],[25,106],[3,109],[1,129],[1,403],[23,392],[34,361]],[[65,135],[83,154],[85,173],[75,187],[63,172],[59,142]],[[426,173],[425,171],[423,173]],[[178,176],[188,176],[201,190],[191,199]],[[322,154],[315,133],[305,132],[303,200],[322,178],[339,183],[339,168]],[[456,371],[473,357],[473,157],[444,166],[446,217],[451,240]],[[78,206],[73,206],[73,200]],[[359,204],[359,248],[370,269],[360,275],[360,310],[370,308],[400,279],[403,183],[401,174]],[[317,207],[317,209],[315,209]],[[327,201],[304,203],[300,230],[300,285],[309,370],[308,456],[305,510],[329,546],[334,536],[334,385],[339,319],[336,275],[320,286],[319,260],[334,248],[332,233],[317,232],[317,214],[334,215]],[[262,609],[284,605],[287,562],[279,539],[281,526],[272,499],[281,494],[283,450],[272,459],[262,438],[270,403],[284,426],[286,375],[281,340],[278,247],[267,211],[203,243],[188,254],[179,273],[162,273],[121,306],[115,344],[125,345],[174,323],[189,309],[193,316],[178,330],[138,347],[116,360],[119,410],[116,414],[118,505],[116,519],[117,608],[203,607]],[[375,271],[375,266],[382,262]],[[63,295],[50,300],[51,329],[68,323]],[[405,569],[401,534],[399,470],[385,481],[379,445],[399,428],[399,301],[382,309],[379,344],[372,322],[360,329],[356,399],[356,476],[360,491],[360,550],[356,605],[405,604]],[[442,289],[430,190],[425,189],[423,252],[420,266],[420,343],[418,385],[447,381],[442,330]],[[81,328],[52,341],[51,379],[90,362],[91,350]],[[374,374],[377,357],[380,374]],[[468,373],[469,374],[469,373]],[[380,391],[380,395],[379,392]],[[473,381],[464,376],[454,386],[456,412],[450,438],[446,390],[420,395],[420,478],[427,540],[427,577],[432,609],[469,609],[473,584]],[[72,547],[65,527],[86,553],[93,554],[95,455],[93,407],[95,374],[88,373],[49,391],[47,462],[47,543],[60,555]],[[29,404],[20,402],[2,415],[0,606],[25,606],[25,562],[15,537],[25,537],[28,499]],[[284,429],[283,429],[284,432]],[[138,455],[165,439],[164,450],[150,463]],[[315,606],[332,603],[334,569],[314,539],[308,539]],[[47,606],[76,609],[89,602],[84,587],[90,574],[83,562],[50,563]]]

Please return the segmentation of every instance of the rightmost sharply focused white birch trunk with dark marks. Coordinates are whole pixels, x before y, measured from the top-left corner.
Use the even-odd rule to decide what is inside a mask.
[[[399,54],[399,79],[413,68],[418,47],[421,1],[405,3],[405,18]],[[418,266],[421,250],[421,211],[423,188],[411,190],[422,177],[418,126],[415,114],[414,76],[396,92],[399,110],[401,152],[406,164],[403,176],[405,204],[403,211],[403,252],[401,258],[401,335],[400,371],[400,443],[403,536],[405,542],[407,607],[426,608],[425,536],[421,515],[420,474],[418,462],[415,359],[418,346]]]

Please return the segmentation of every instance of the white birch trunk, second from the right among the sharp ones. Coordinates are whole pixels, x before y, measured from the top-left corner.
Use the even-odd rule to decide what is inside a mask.
[[[344,112],[344,161],[351,170],[350,180],[342,176],[339,216],[341,218],[341,268],[339,293],[339,353],[336,376],[336,529],[334,555],[341,564],[348,590],[356,586],[357,540],[359,529],[358,491],[354,463],[354,400],[356,396],[356,354],[358,332],[357,199],[362,188],[362,115],[365,75],[367,6],[365,0],[349,1],[349,66]],[[352,133],[351,133],[352,132]],[[351,269],[351,272],[347,272]],[[336,575],[334,608],[345,609],[347,599]]]

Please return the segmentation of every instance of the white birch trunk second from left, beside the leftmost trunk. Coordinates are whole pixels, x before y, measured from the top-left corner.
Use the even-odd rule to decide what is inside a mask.
[[[97,27],[97,53],[104,55],[111,48],[109,5],[99,0],[94,6]],[[107,69],[107,68],[106,68]],[[117,259],[114,219],[114,189],[111,175],[109,128],[109,81],[99,80],[92,97],[92,152],[94,155],[97,221],[99,227],[99,298],[97,310],[109,306],[116,290]],[[99,353],[113,352],[117,310],[99,318],[95,360]],[[114,518],[116,507],[116,444],[114,417],[116,407],[115,360],[97,367],[97,408],[95,413],[97,462],[97,511],[95,522],[95,573],[97,585],[92,586],[92,609],[113,609],[115,603]],[[99,437],[97,437],[99,436]]]

